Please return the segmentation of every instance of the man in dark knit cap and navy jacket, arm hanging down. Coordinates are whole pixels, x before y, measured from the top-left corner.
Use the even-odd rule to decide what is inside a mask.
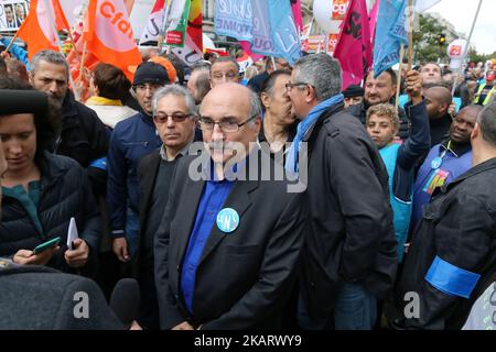
[[[162,145],[152,119],[153,94],[169,82],[163,66],[142,63],[132,82],[142,111],[116,124],[108,152],[107,202],[114,252],[121,262],[137,254],[139,238],[138,164]]]

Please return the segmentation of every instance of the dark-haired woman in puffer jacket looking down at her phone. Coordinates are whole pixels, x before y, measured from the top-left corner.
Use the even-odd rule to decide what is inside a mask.
[[[100,216],[79,164],[46,152],[58,129],[60,112],[45,94],[21,81],[0,79],[0,89],[19,90],[26,99],[15,112],[0,107],[0,138],[8,163],[2,175],[0,256],[68,273],[87,267],[99,245]],[[67,248],[71,218],[79,238]],[[54,238],[61,238],[58,246],[33,252]]]

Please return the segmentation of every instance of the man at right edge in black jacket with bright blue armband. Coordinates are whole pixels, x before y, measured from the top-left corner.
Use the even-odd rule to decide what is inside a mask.
[[[496,103],[478,116],[471,136],[473,167],[434,190],[423,209],[401,274],[401,296],[414,293],[407,329],[461,329],[474,290],[496,263]],[[411,295],[410,295],[411,297]]]

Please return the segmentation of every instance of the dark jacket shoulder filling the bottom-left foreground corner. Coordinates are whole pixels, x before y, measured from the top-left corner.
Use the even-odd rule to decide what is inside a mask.
[[[84,314],[87,305],[87,318]],[[90,279],[0,260],[0,330],[122,330]]]

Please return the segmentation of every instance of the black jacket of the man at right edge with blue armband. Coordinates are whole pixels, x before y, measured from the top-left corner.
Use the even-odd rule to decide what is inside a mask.
[[[496,262],[496,158],[436,188],[424,207],[400,279],[400,299],[408,292],[420,297],[420,317],[406,320],[410,329],[463,326],[460,307],[465,299],[446,295],[424,279],[435,256],[483,278],[493,273],[488,267]]]

